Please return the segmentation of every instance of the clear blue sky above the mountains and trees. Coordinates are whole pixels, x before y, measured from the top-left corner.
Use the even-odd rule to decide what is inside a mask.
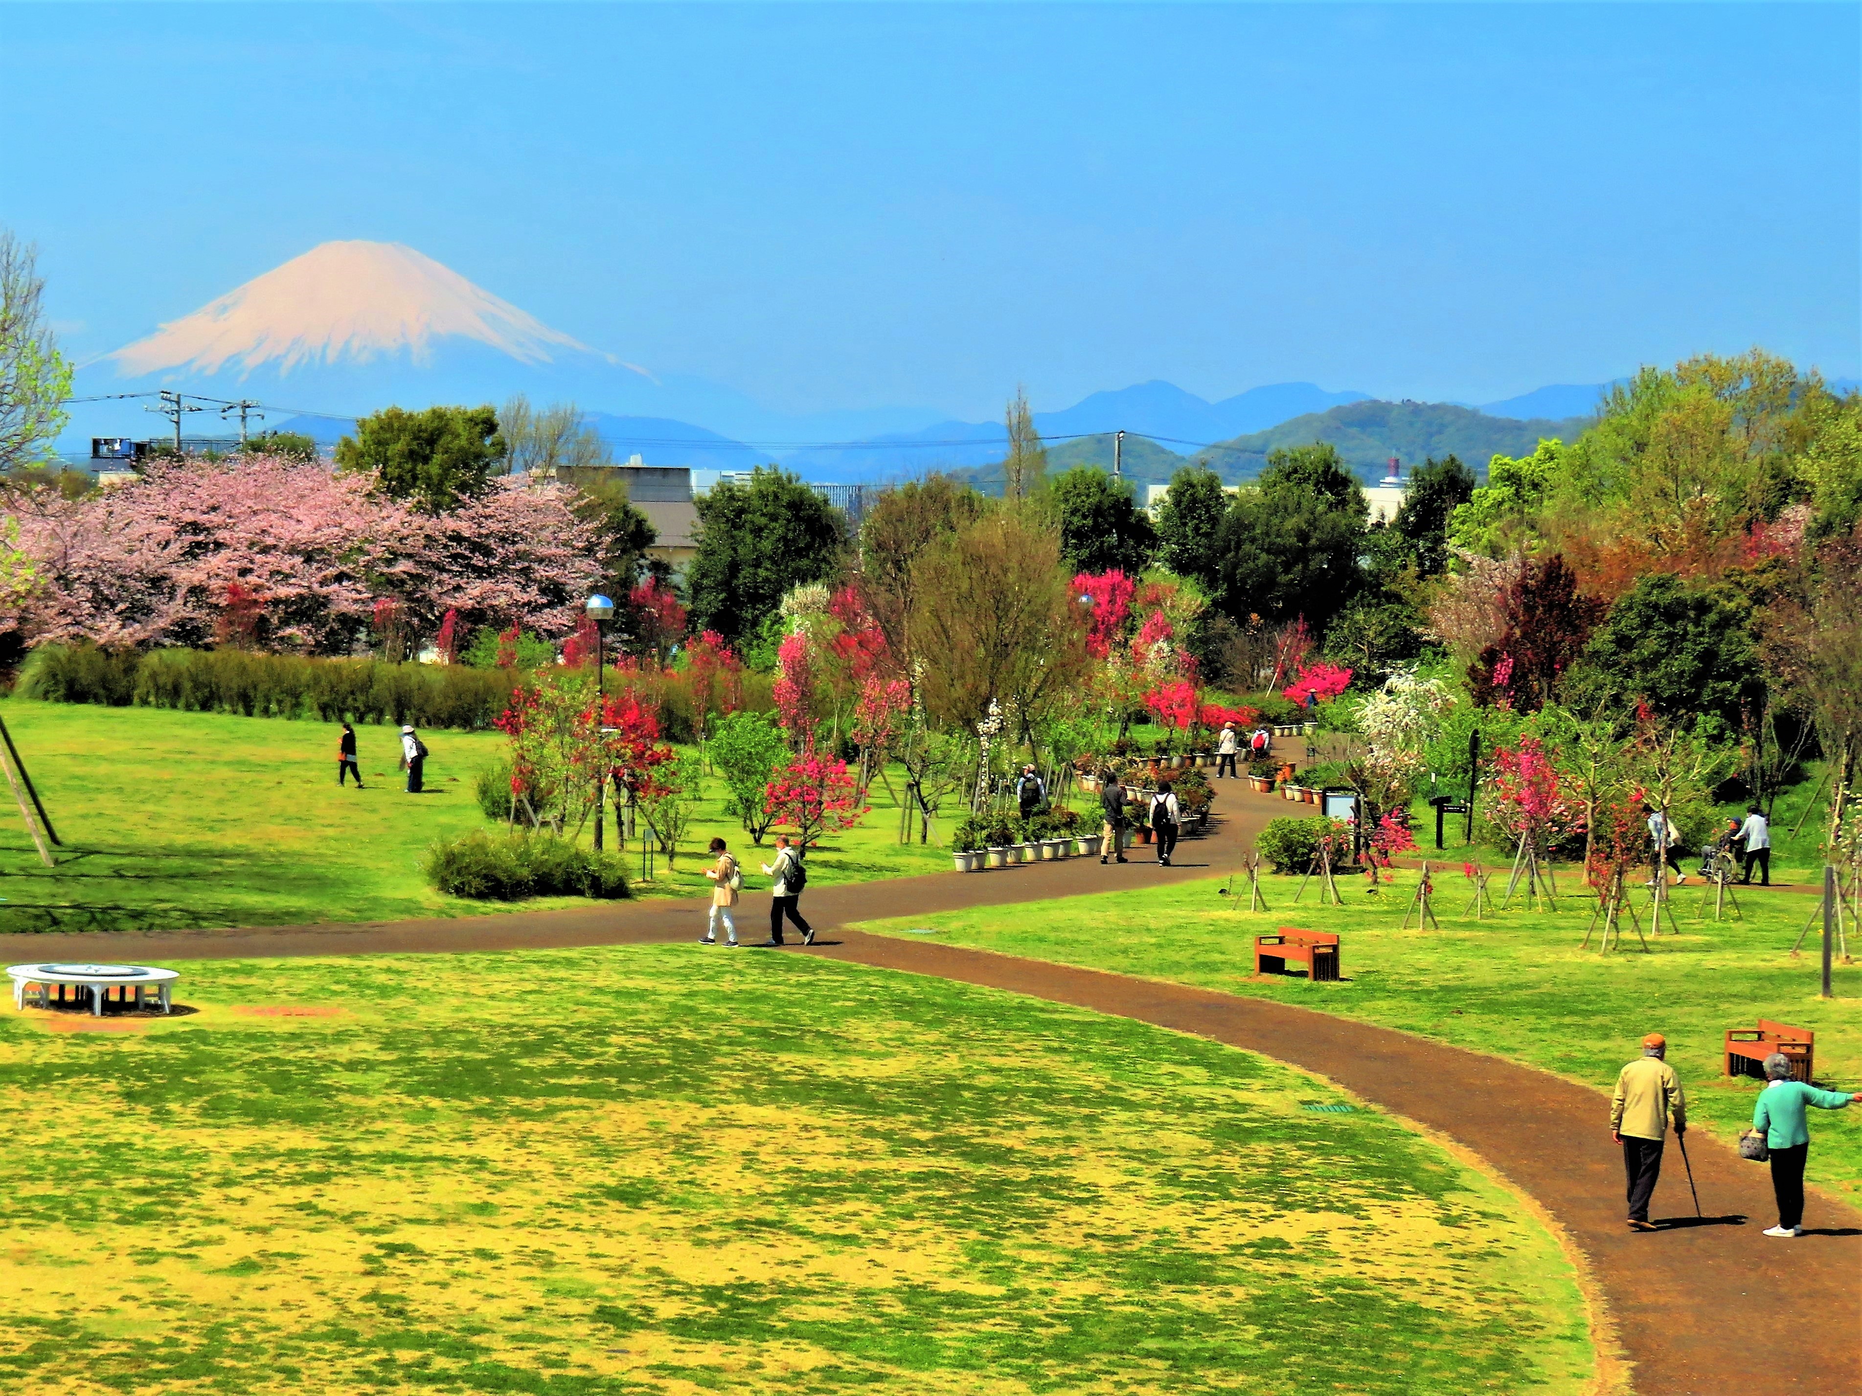
[[[1862,7],[0,6],[67,348],[330,238],[784,411],[1862,374]]]

